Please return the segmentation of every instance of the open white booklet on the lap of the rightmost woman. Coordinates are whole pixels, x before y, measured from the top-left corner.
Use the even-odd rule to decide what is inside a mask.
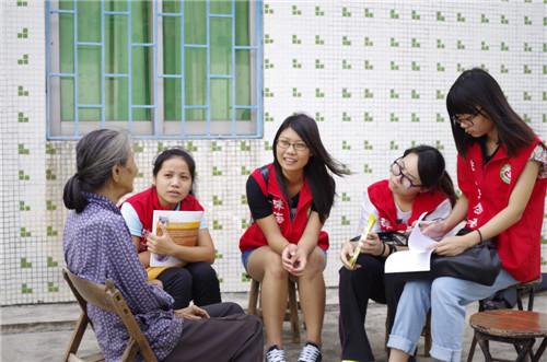
[[[426,215],[427,212],[422,213],[412,227],[408,236],[408,250],[397,252],[387,257],[384,266],[386,273],[430,270],[431,254],[437,242],[421,233],[419,224]]]

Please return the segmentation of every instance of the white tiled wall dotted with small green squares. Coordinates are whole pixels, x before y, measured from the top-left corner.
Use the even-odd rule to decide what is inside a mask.
[[[8,49],[0,51],[1,304],[67,301],[61,195],[74,143],[45,139],[44,3],[0,3]],[[162,148],[182,143],[194,153],[223,291],[248,289],[237,249],[248,222],[245,180],[271,160],[275,131],[293,112],[315,117],[328,150],[353,172],[338,182],[326,224],[328,285],[337,284],[337,253],[356,232],[363,187],[385,177],[405,148],[439,147],[454,176],[444,97],[462,70],[488,69],[514,108],[547,136],[547,0],[266,1],[264,57],[264,140],[136,142],[137,190],[149,185]]]

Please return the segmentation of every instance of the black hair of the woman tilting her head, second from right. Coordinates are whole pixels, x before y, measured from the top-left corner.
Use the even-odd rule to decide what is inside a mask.
[[[440,190],[450,199],[452,206],[456,203],[456,192],[452,178],[446,173],[445,162],[442,153],[431,145],[417,145],[405,150],[403,156],[414,153],[418,156],[418,175],[421,185],[429,190]]]

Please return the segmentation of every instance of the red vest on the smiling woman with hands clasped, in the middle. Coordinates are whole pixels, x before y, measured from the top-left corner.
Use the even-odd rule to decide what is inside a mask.
[[[291,221],[289,202],[284,198],[283,192],[277,183],[276,168],[271,163],[267,165],[267,167],[269,171],[268,183],[264,180],[260,168],[255,170],[253,174],[251,174],[251,177],[258,183],[258,186],[265,195],[269,195],[271,197],[274,217],[276,218],[281,234],[287,238],[287,241],[289,241],[289,243],[298,244],[304,233],[304,229],[307,224],[307,217],[310,215],[312,207],[313,199],[310,185],[304,179],[304,185],[300,190],[296,214],[294,220]],[[242,253],[264,245],[268,245],[268,241],[256,223],[253,223],[240,238],[240,250]],[[317,246],[323,250],[328,249],[328,234],[326,232],[319,232]]]

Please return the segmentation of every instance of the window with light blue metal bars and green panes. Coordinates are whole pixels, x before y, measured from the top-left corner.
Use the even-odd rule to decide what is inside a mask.
[[[48,139],[261,137],[261,1],[46,2]]]

